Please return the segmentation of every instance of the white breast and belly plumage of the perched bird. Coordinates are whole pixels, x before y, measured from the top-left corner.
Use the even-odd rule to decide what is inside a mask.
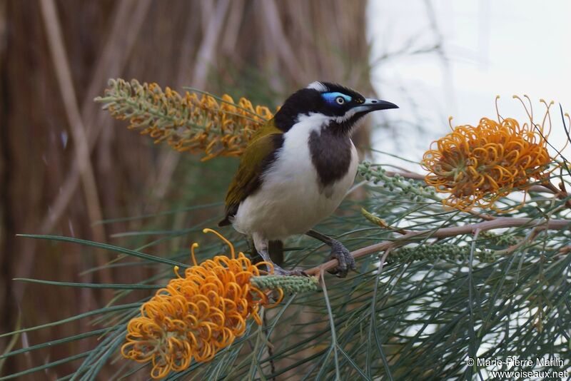
[[[310,114],[284,134],[283,147],[261,188],[240,204],[233,220],[236,230],[268,240],[285,239],[307,232],[339,206],[355,180],[358,157],[351,143],[348,173],[333,186],[320,189],[308,139],[327,122],[327,116]]]

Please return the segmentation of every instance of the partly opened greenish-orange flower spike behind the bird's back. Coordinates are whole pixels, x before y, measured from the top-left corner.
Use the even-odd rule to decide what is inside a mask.
[[[109,81],[103,97],[111,116],[128,120],[128,128],[138,128],[155,143],[166,141],[177,151],[203,153],[203,161],[217,156],[240,156],[253,133],[273,117],[265,106],[254,107],[240,98],[236,103],[224,94],[186,91],[183,95],[156,83],[123,79]]]

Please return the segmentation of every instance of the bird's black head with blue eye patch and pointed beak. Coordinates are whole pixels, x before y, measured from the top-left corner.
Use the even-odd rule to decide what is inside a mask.
[[[303,116],[323,116],[321,121],[339,133],[350,133],[355,123],[371,111],[398,108],[394,103],[365,98],[336,83],[310,83],[285,100],[276,113],[276,126],[288,131]]]

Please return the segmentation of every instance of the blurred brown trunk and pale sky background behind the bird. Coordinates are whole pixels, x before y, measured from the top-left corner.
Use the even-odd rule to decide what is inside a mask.
[[[456,124],[495,116],[496,94],[504,115],[522,115],[513,93],[568,106],[570,10],[564,0],[0,0],[0,332],[84,313],[112,297],[13,278],[136,283],[153,274],[143,266],[89,270],[112,258],[16,234],[160,255],[186,250],[201,237],[185,228],[212,225],[208,219],[221,215],[237,161],[198,165],[196,157],[128,131],[93,101],[108,78],[193,86],[271,107],[316,79],[337,81],[400,106],[392,119],[380,116],[358,132],[363,155],[418,161],[448,131],[448,116]],[[556,126],[556,139],[563,138]],[[212,208],[188,212],[208,203]],[[165,230],[176,239],[157,240]],[[66,337],[82,324],[88,322],[19,340]],[[8,345],[0,339],[0,350]],[[4,362],[1,374],[91,345],[30,352]],[[61,374],[73,369],[63,365]]]

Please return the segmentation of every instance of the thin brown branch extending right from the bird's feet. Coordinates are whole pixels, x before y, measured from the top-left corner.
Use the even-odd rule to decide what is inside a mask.
[[[537,222],[537,223],[536,223]],[[451,228],[441,228],[441,229],[428,229],[413,231],[399,237],[395,240],[384,240],[380,243],[375,243],[374,245],[367,246],[365,248],[360,248],[351,252],[353,258],[357,259],[369,255],[372,253],[377,253],[379,251],[387,250],[388,248],[395,248],[398,246],[406,245],[407,243],[413,242],[420,238],[433,237],[433,238],[448,238],[455,235],[471,234],[475,230],[486,231],[501,228],[516,228],[520,226],[527,226],[530,228],[543,228],[549,230],[563,230],[570,228],[570,220],[548,220],[545,222],[539,222],[533,218],[510,218],[510,217],[500,217],[495,220],[483,221],[481,223],[473,223],[470,225],[463,226],[453,226]],[[310,276],[317,276],[321,272],[335,268],[338,265],[338,260],[330,260],[325,262],[315,268],[310,268],[305,270],[305,273]]]

